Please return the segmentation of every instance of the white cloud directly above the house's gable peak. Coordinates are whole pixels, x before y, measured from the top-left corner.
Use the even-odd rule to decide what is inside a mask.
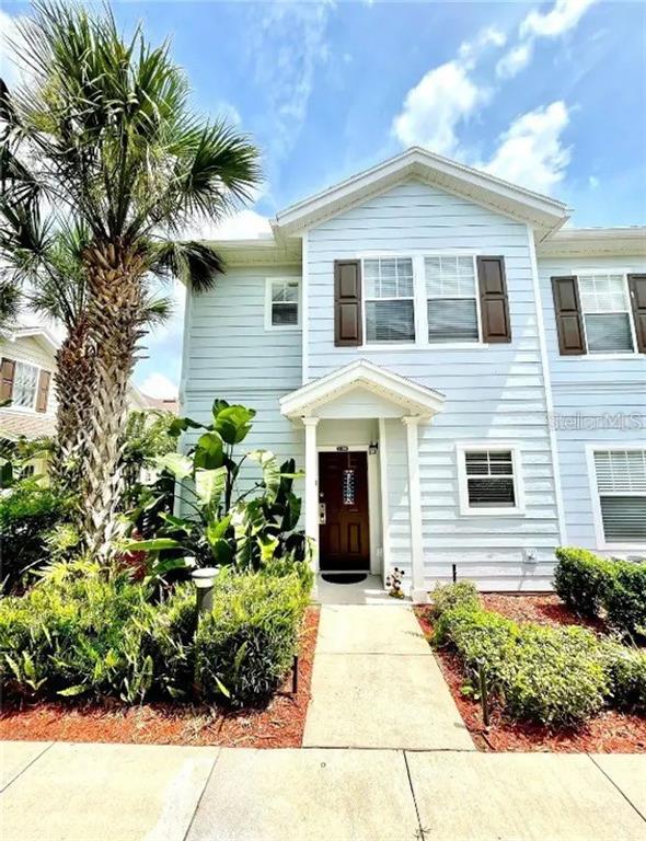
[[[447,61],[429,70],[408,91],[401,114],[393,120],[393,134],[404,146],[455,154],[458,126],[488,97],[489,91],[470,79],[462,62]]]

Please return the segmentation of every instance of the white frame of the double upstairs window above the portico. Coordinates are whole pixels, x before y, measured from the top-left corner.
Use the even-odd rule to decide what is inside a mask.
[[[478,278],[477,278],[477,257],[483,252],[481,250],[474,251],[471,249],[464,249],[463,251],[447,251],[443,249],[412,249],[409,251],[370,251],[361,252],[358,254],[347,255],[348,260],[361,261],[361,279],[364,278],[364,262],[366,260],[392,260],[392,258],[408,258],[413,261],[413,308],[415,319],[415,341],[414,342],[366,342],[366,295],[365,283],[362,280],[361,286],[361,319],[362,319],[362,343],[360,345],[361,350],[365,352],[379,352],[379,350],[393,350],[396,348],[400,352],[419,350],[423,347],[425,350],[484,350],[488,348],[488,342],[483,342],[482,333],[482,313],[480,306],[478,293]],[[427,295],[426,295],[426,275],[424,269],[424,261],[426,257],[472,257],[475,276],[475,308],[477,313],[477,342],[429,342],[428,341],[428,313],[427,313]],[[370,299],[372,300],[372,299]],[[381,299],[380,299],[381,300]],[[383,299],[387,300],[387,299]],[[404,300],[404,299],[396,299]],[[406,299],[407,300],[407,299]]]

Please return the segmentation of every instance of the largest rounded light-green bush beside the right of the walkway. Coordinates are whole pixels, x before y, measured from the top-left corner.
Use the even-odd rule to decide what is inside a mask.
[[[608,679],[596,636],[584,629],[519,625],[469,607],[438,621],[436,644],[449,644],[475,682],[478,667],[514,718],[570,725],[597,713]]]

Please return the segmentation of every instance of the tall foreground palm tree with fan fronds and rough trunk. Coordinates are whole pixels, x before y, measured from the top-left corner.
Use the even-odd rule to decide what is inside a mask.
[[[196,117],[169,45],[151,47],[139,27],[126,42],[109,11],[35,2],[19,26],[32,82],[12,99],[15,142],[37,162],[43,194],[89,234],[82,262],[93,391],[84,406],[83,506],[89,545],[105,554],[146,278],[158,266],[189,274],[195,289],[214,283],[222,269],[217,254],[174,240],[196,217],[218,219],[251,197],[258,153],[223,122]]]

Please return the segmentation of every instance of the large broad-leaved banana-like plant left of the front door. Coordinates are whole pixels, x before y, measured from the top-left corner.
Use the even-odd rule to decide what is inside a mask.
[[[269,450],[237,456],[237,447],[251,431],[254,410],[216,400],[211,415],[209,425],[177,418],[176,435],[201,431],[188,452],[158,459],[158,466],[174,476],[185,514],[162,514],[163,527],[154,538],[130,541],[123,549],[149,553],[158,565],[163,557],[192,566],[234,564],[258,569],[273,558],[307,560],[309,544],[297,529],[301,500],[293,493],[293,482],[302,473],[296,471],[293,459],[279,465]],[[238,494],[245,462],[259,466],[261,479]],[[154,497],[150,504],[154,505]]]

